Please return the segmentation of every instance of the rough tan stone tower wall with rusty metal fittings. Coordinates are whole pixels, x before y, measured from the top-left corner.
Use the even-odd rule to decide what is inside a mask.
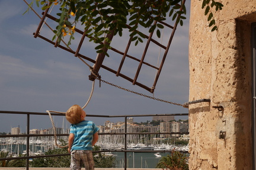
[[[252,169],[250,28],[256,1],[220,2],[223,10],[213,11],[218,30],[211,32],[202,1],[191,0],[189,100],[211,101],[189,105],[190,170]],[[213,108],[220,105],[222,111]]]

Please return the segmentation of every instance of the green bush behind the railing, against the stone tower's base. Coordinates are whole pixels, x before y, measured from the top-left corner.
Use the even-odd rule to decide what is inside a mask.
[[[171,155],[167,155],[161,158],[156,168],[166,168],[169,170],[188,170],[186,159],[187,158],[183,153],[172,150]]]

